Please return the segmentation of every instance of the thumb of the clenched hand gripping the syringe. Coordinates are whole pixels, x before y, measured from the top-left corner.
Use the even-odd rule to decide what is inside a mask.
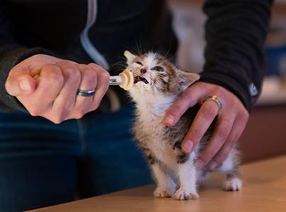
[[[13,96],[28,95],[35,90],[34,79],[26,74],[10,75],[7,78],[5,88],[7,93]]]

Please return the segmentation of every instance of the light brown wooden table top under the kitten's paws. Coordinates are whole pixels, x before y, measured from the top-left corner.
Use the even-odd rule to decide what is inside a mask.
[[[249,163],[243,165],[241,170],[244,185],[240,192],[222,191],[224,177],[214,173],[199,189],[198,200],[158,199],[152,196],[154,187],[148,185],[33,212],[286,211],[286,155]]]

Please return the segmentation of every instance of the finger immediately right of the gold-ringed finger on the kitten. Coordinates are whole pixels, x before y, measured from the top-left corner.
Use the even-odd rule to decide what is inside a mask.
[[[208,101],[212,102],[212,101]],[[233,110],[224,111],[216,121],[216,126],[211,134],[211,138],[208,141],[207,147],[199,153],[197,158],[196,167],[201,169],[209,163],[209,161],[214,158],[214,155],[219,151],[221,146],[224,145],[226,139],[231,133],[233,122],[236,119],[236,113]]]

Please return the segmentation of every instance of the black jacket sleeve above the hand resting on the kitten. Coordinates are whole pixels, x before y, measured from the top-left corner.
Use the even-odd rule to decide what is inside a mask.
[[[261,90],[272,4],[270,0],[206,0],[204,4],[207,46],[201,81],[230,90],[248,112]]]

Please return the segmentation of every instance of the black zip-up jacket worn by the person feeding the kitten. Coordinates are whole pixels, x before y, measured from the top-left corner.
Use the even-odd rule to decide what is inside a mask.
[[[248,111],[263,79],[263,47],[270,0],[209,0],[206,64],[201,81],[231,90]],[[4,88],[13,66],[33,54],[52,54],[80,63],[92,60],[79,35],[87,21],[84,0],[0,0],[0,108],[24,110]],[[125,49],[174,55],[177,40],[164,0],[98,0],[89,37],[109,64],[123,61]],[[111,68],[111,71],[112,68]]]

